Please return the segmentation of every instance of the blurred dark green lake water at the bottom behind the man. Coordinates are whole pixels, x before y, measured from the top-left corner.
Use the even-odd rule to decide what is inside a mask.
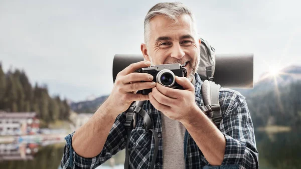
[[[259,151],[259,163],[262,169],[301,168],[301,129],[282,132],[256,131],[256,145]],[[0,144],[0,146],[4,146]],[[31,143],[16,146],[15,155],[0,154],[0,169],[58,169],[63,154],[64,143],[40,145]],[[24,150],[24,151],[21,151]],[[20,153],[20,152],[23,152]],[[19,154],[17,154],[19,153]],[[22,160],[20,157],[23,157]],[[109,169],[111,161],[97,169]],[[114,156],[115,166],[123,168],[124,151]]]

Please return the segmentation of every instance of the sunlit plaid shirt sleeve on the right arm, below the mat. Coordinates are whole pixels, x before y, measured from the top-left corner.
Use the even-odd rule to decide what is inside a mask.
[[[239,168],[259,168],[254,127],[245,97],[235,92],[225,98],[220,130],[226,139],[222,165],[239,164]]]

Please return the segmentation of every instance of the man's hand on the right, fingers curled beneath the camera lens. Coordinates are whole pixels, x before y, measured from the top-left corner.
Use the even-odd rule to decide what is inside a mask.
[[[195,87],[186,77],[175,77],[184,90],[165,87],[157,83],[148,94],[150,103],[167,117],[180,122],[193,118],[199,107],[195,102]]]

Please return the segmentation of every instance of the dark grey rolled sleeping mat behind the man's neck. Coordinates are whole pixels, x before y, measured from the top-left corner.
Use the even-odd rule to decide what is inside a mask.
[[[142,55],[115,55],[113,82],[117,74],[131,63],[143,60]],[[216,54],[214,82],[227,88],[253,88],[253,54]]]

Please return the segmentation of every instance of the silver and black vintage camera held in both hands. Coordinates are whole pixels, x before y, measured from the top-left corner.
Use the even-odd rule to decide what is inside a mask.
[[[159,84],[171,87],[175,89],[183,89],[178,83],[176,83],[175,76],[186,77],[187,69],[182,67],[181,64],[165,64],[165,65],[152,65],[147,68],[140,68],[135,72],[148,73],[154,76],[153,81]],[[152,92],[152,89],[144,89],[138,91],[143,95]]]

